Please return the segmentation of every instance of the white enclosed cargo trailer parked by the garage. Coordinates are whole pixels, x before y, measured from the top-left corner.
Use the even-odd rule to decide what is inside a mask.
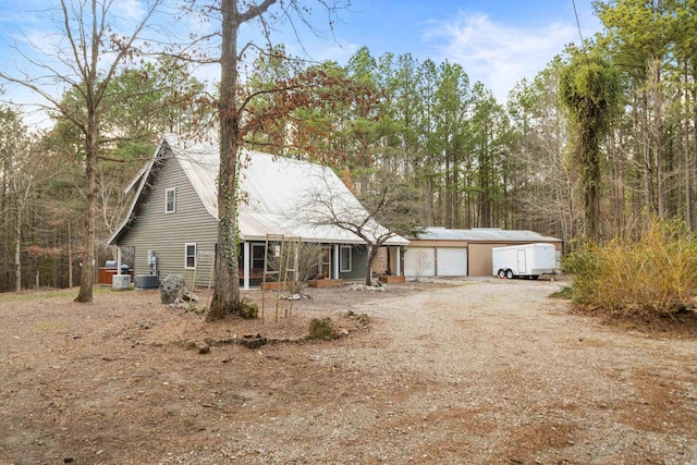
[[[491,249],[492,274],[501,279],[539,278],[557,272],[557,248],[553,244],[523,244]]]

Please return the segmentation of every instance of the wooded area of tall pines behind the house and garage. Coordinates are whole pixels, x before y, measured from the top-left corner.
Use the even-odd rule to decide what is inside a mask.
[[[586,235],[631,235],[650,215],[694,231],[697,0],[598,2],[597,13],[602,35],[560,50],[505,103],[449,61],[375,57],[364,47],[345,65],[308,65],[285,57],[282,46],[270,48],[246,63],[236,89],[246,123],[237,137],[257,150],[326,163],[358,196],[374,193],[388,172],[418,193],[421,225],[530,229],[567,247]],[[112,258],[99,244],[123,220],[123,188],[159,135],[217,131],[217,89],[192,77],[191,61],[179,58],[130,58],[105,83],[99,124],[108,136],[95,158],[97,265]],[[591,62],[616,74],[617,105],[588,160],[578,156],[580,136],[560,90],[562,76],[583,88],[588,73],[570,77],[568,70]],[[103,83],[93,77],[90,86]],[[88,83],[58,98],[78,115],[87,114],[81,85]],[[89,192],[84,133],[73,113],[51,115],[52,127],[37,131],[20,108],[0,111],[0,291],[80,279]]]

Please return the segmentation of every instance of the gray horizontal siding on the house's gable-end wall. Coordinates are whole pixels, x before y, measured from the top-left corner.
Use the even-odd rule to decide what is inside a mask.
[[[147,258],[148,250],[152,250],[160,282],[170,273],[183,273],[186,282],[193,283],[194,269],[185,267],[185,244],[196,244],[194,285],[207,286],[218,238],[218,221],[208,213],[184,170],[173,158],[161,158],[148,182],[152,187],[144,193],[140,208],[134,212],[136,220],[119,244],[135,248],[135,276],[149,273]],[[166,195],[170,188],[175,189],[175,208],[173,212],[166,213]]]

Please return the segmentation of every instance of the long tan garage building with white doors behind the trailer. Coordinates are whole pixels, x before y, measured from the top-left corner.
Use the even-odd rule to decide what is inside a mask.
[[[533,231],[476,228],[425,228],[404,250],[406,277],[491,276],[491,249],[518,244],[551,243],[561,255],[563,242]]]

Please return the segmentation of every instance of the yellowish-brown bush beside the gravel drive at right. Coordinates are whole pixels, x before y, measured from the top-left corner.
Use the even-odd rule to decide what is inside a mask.
[[[587,246],[564,259],[576,306],[672,315],[697,295],[697,236],[677,221],[653,219],[638,238]]]

